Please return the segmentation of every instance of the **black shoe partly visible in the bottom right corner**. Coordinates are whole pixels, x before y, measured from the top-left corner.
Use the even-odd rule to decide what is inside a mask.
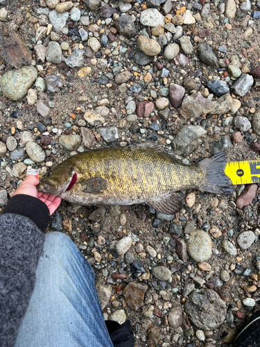
[[[255,312],[251,319],[237,335],[233,347],[260,347],[260,311]]]

